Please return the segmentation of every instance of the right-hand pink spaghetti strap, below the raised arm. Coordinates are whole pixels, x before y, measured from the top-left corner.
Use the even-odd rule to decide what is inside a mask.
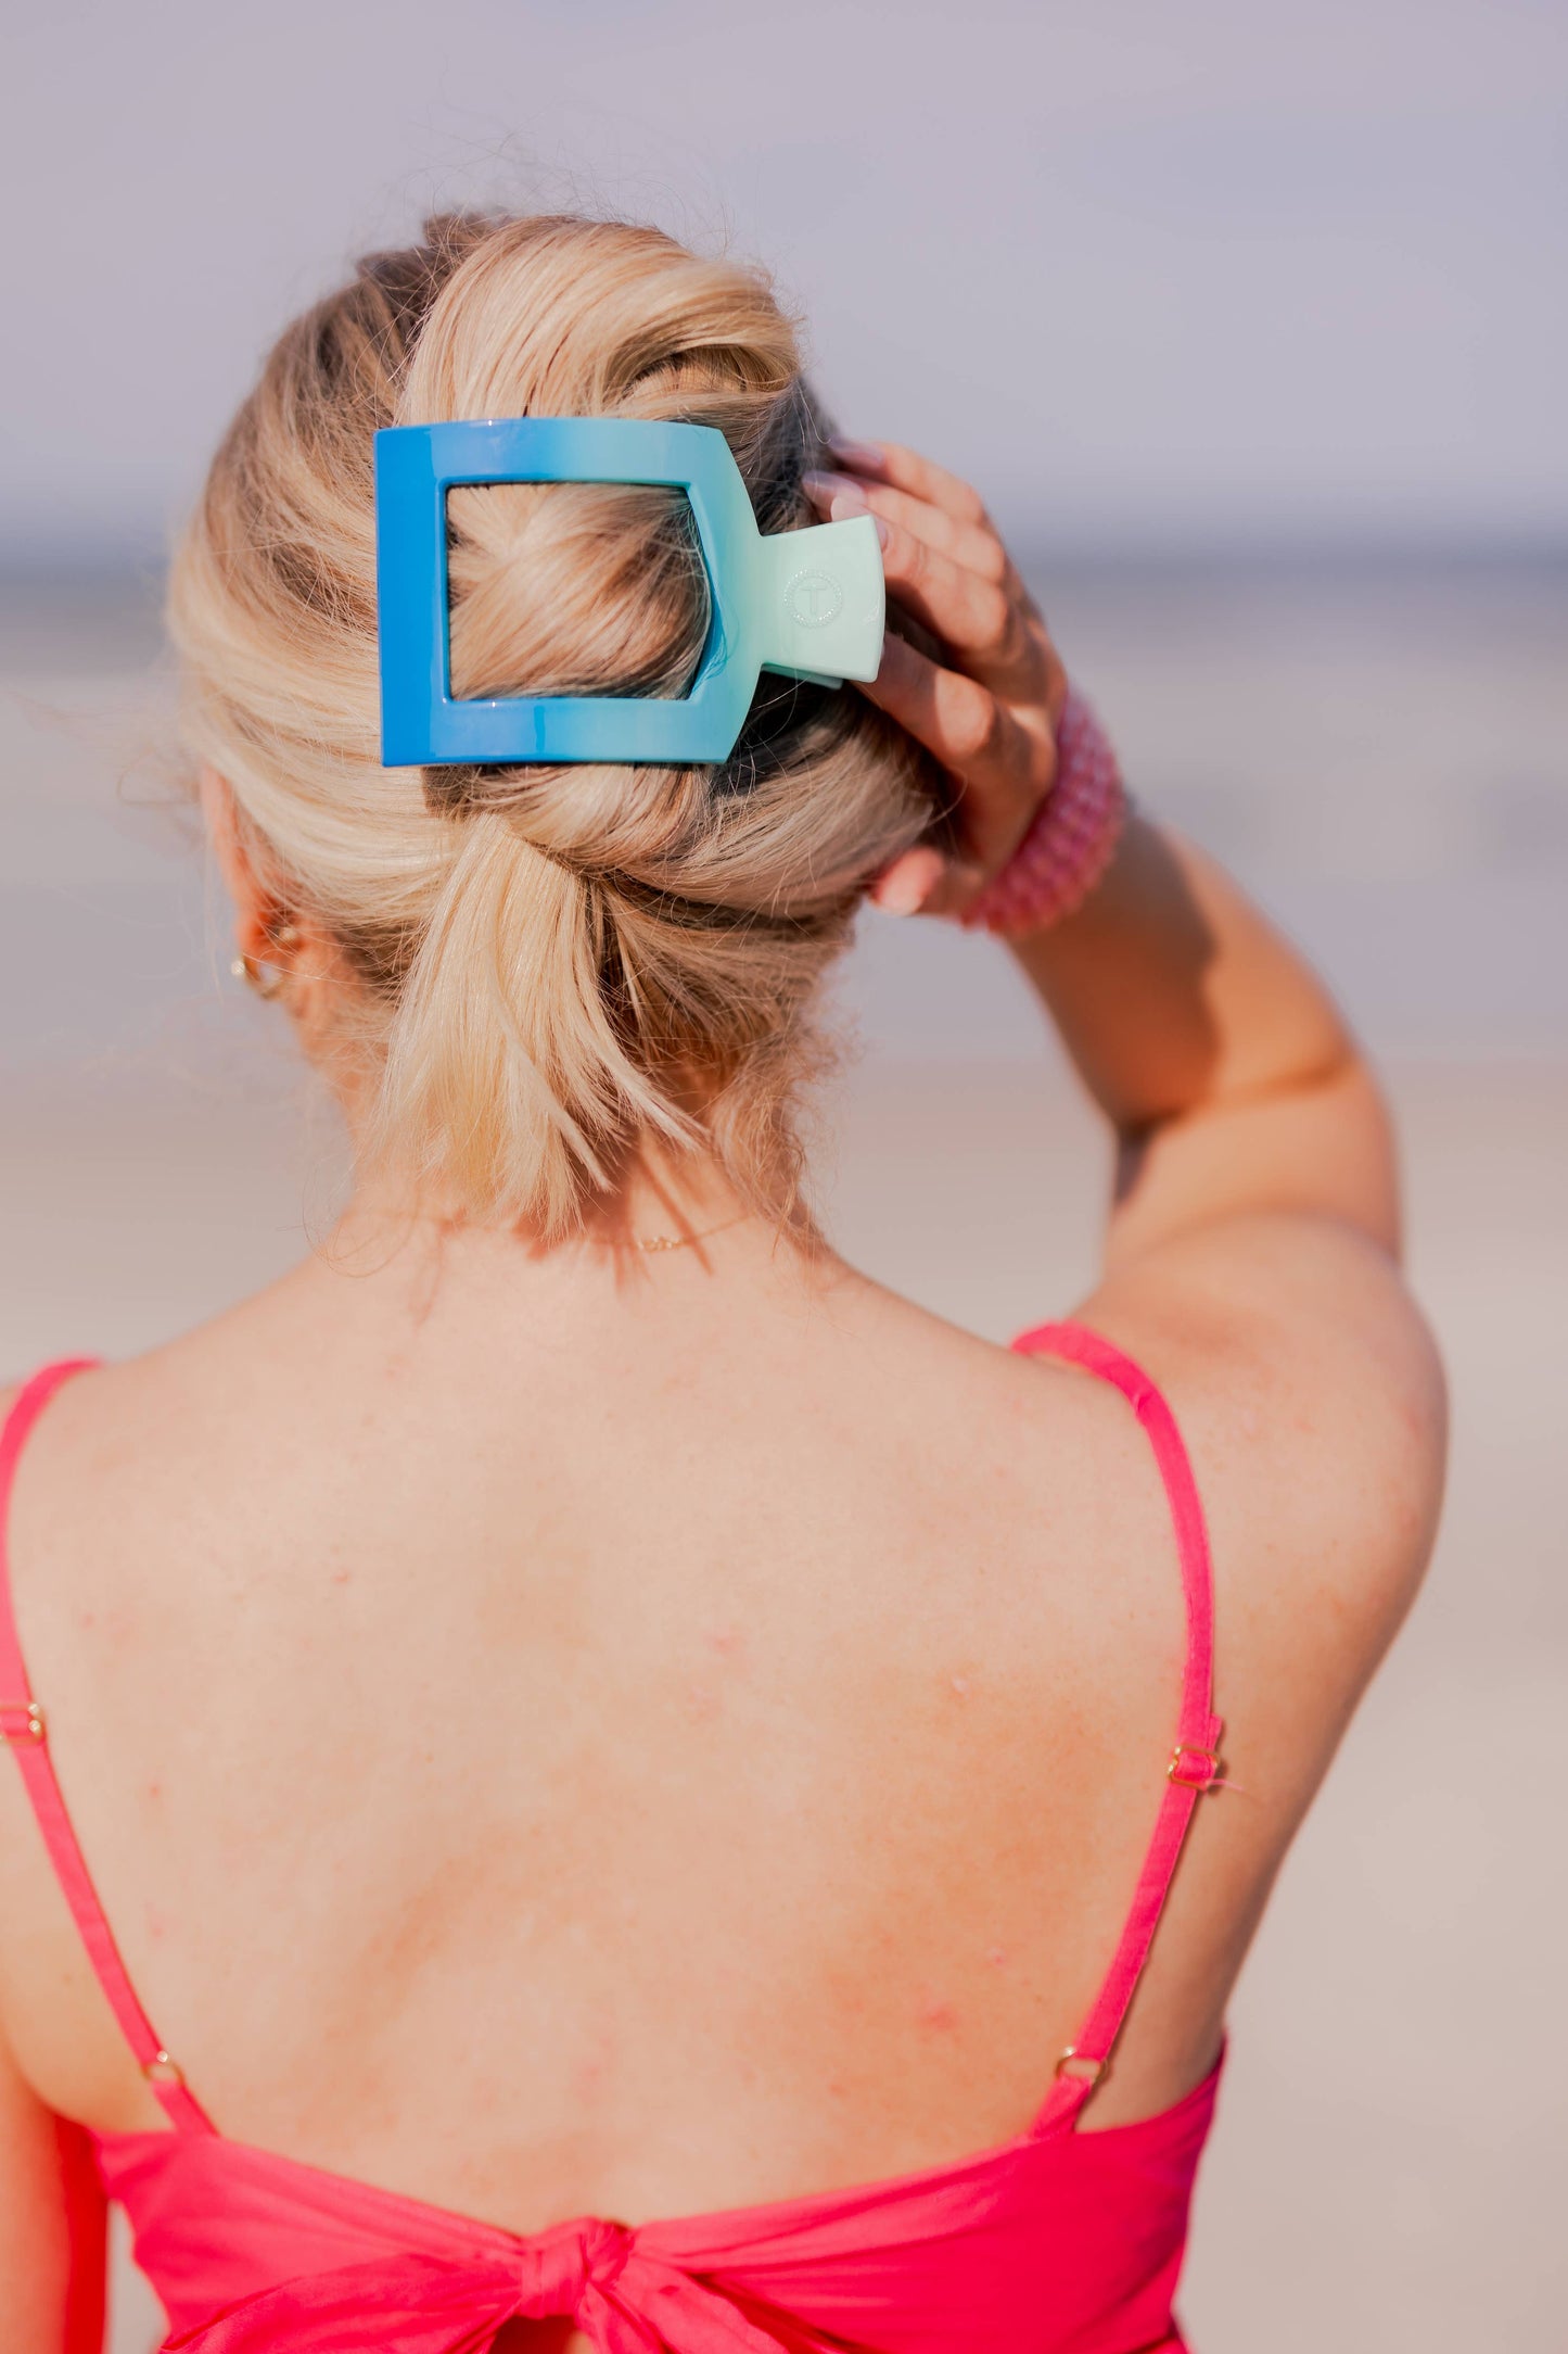
[[[1159,1916],[1182,1853],[1192,1808],[1201,1791],[1215,1789],[1220,1782],[1215,1744],[1222,1733],[1222,1718],[1213,1714],[1213,1568],[1208,1561],[1208,1530],[1175,1415],[1131,1356],[1121,1356],[1119,1349],[1112,1349],[1107,1339],[1100,1339],[1086,1325],[1037,1325],[1032,1332],[1020,1332],[1013,1349],[1020,1356],[1058,1356],[1072,1365],[1081,1365],[1100,1382],[1112,1382],[1131,1403],[1154,1448],[1154,1462],[1166,1485],[1182,1570],[1182,1594],[1187,1598],[1182,1702],[1175,1721],[1175,1742],[1166,1763],[1166,1794],[1154,1817],[1154,1836],[1143,1857],[1133,1907],[1126,1916],[1112,1966],[1105,1973],[1105,1984],[1077,2039],[1058,2060],[1056,2083],[1034,2121],[1039,2130],[1060,2119],[1072,2119],[1110,2064],[1112,2046],[1154,1944],[1154,1930],[1159,1928]]]

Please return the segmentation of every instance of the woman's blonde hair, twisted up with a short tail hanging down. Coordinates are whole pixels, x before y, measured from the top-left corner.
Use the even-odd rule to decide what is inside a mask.
[[[757,273],[611,221],[430,221],[282,334],[212,464],[169,591],[186,739],[341,951],[369,1151],[564,1233],[663,1139],[799,1222],[823,975],[931,822],[929,772],[853,690],[780,678],[722,767],[383,770],[371,435],[524,412],[717,426],[764,530],[816,520],[820,421]],[[449,544],[454,692],[691,680],[677,494],[473,487]]]

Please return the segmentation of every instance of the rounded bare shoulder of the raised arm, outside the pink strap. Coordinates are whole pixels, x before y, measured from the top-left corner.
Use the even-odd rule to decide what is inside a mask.
[[[1443,1368],[1399,1266],[1335,1219],[1251,1212],[1112,1271],[1084,1321],[1182,1431],[1222,1655],[1302,1737],[1342,1723],[1415,1596],[1443,1490]]]

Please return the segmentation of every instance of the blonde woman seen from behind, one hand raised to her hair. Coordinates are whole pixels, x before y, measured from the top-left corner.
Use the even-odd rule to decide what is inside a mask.
[[[764,678],[684,770],[383,770],[371,438],[524,414],[870,513],[875,685]],[[449,541],[456,694],[689,685],[670,492],[468,487]],[[5,1401],[7,2354],[99,2345],[110,2199],[200,2354],[1180,2347],[1229,1991],[1439,1497],[1333,1003],[1124,810],[973,492],[830,447],[766,285],[651,231],[364,261],[172,626],[357,1189]],[[994,932],[1121,1144],[1013,1351],[811,1222],[865,895]]]

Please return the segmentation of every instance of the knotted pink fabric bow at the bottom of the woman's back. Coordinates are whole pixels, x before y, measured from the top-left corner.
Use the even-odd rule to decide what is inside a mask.
[[[729,2298],[644,2255],[618,2222],[571,2222],[515,2253],[388,2255],[282,2281],[162,2354],[489,2354],[508,2321],[571,2316],[599,2354],[778,2354]]]

